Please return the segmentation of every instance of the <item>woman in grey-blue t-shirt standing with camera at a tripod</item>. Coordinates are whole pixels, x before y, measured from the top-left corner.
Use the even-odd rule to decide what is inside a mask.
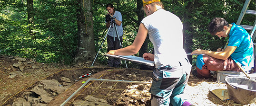
[[[121,13],[114,9],[113,4],[108,3],[106,6],[106,9],[108,10],[108,14],[105,17],[106,26],[109,28],[109,26],[111,25],[111,28],[108,31],[108,38],[107,38],[108,51],[117,50],[121,48],[120,44],[122,44],[123,42],[123,24],[122,24],[123,18]],[[114,31],[113,24],[116,24],[117,31]],[[114,34],[114,32],[116,34]],[[115,37],[115,40],[114,40],[114,37]],[[118,37],[120,41],[118,40]],[[120,64],[121,64],[120,59],[108,57],[108,67],[118,68],[120,67]]]

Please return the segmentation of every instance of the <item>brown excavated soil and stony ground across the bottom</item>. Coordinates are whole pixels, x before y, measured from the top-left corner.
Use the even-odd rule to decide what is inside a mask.
[[[152,71],[90,65],[0,55],[0,106],[151,106]],[[190,75],[184,94],[196,106],[256,106],[223,101],[210,92],[216,88],[226,84]]]

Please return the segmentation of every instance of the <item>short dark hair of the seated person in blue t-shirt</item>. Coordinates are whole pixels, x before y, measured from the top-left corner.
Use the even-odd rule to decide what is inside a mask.
[[[224,31],[224,26],[229,26],[224,18],[213,18],[208,26],[208,31],[211,35],[216,35],[217,32]]]

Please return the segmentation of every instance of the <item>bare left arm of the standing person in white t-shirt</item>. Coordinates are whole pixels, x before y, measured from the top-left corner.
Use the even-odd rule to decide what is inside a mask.
[[[148,35],[148,29],[144,26],[144,24],[140,23],[138,28],[138,34],[133,41],[132,45],[129,45],[125,48],[121,48],[118,50],[111,50],[107,54],[112,55],[133,55],[138,53],[139,49],[141,48],[142,44],[144,43],[146,37]]]

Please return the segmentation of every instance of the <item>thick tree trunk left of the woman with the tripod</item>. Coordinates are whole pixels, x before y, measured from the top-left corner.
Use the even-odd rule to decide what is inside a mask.
[[[91,0],[79,0],[77,6],[78,48],[74,62],[79,64],[94,59],[95,45]]]

